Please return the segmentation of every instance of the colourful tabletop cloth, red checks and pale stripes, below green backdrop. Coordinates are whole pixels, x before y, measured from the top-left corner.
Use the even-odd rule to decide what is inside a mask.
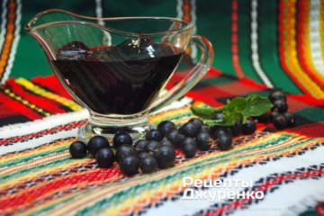
[[[249,93],[265,95],[268,90],[211,69],[187,97],[152,113],[149,121],[180,124],[192,117],[193,103],[220,105]],[[7,111],[0,122],[11,123],[0,128],[0,215],[296,215],[324,200],[324,102],[311,97],[288,95],[297,115],[292,130],[270,132],[271,125],[258,124],[255,135],[235,139],[230,151],[213,145],[192,159],[177,151],[174,167],[130,178],[121,175],[118,165],[100,169],[93,159],[70,158],[68,146],[87,112],[54,76],[10,79],[0,101]],[[244,179],[253,185],[231,189],[265,197],[187,200],[188,188],[197,194],[219,189],[184,187],[184,177]]]

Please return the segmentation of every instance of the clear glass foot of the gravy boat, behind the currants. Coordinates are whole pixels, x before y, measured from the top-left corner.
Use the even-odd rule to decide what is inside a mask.
[[[145,132],[150,130],[151,125],[146,123],[141,123],[139,125],[131,125],[131,126],[98,126],[94,125],[91,122],[87,122],[84,126],[79,128],[77,132],[78,139],[87,142],[89,139],[96,135],[100,135],[109,140],[109,143],[112,144],[113,136],[118,131],[124,131],[130,134],[133,140],[142,139],[145,136]]]

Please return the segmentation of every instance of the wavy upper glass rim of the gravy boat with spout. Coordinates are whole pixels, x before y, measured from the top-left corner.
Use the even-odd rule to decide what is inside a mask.
[[[171,21],[171,22],[178,22],[178,23],[184,23],[183,28],[178,28],[174,30],[167,30],[167,31],[157,31],[157,32],[130,32],[130,31],[121,31],[117,30],[114,28],[106,27],[103,26],[99,23],[91,23],[91,22],[86,22],[86,21],[58,21],[58,22],[50,22],[50,23],[43,23],[40,25],[32,26],[34,23],[36,23],[40,17],[44,14],[49,14],[51,12],[60,12],[60,13],[65,13],[65,14],[70,14],[72,16],[76,16],[85,20],[92,20],[92,21],[126,21],[126,20],[166,20],[166,21]],[[121,34],[121,35],[127,35],[131,37],[138,37],[140,36],[157,36],[157,35],[166,35],[167,33],[171,32],[182,32],[182,31],[189,31],[193,29],[193,23],[187,23],[182,19],[175,18],[175,17],[166,17],[166,16],[121,16],[121,17],[110,17],[110,18],[98,18],[98,17],[93,17],[93,16],[85,16],[85,15],[80,15],[80,14],[75,14],[72,12],[68,12],[66,10],[62,9],[49,9],[43,12],[40,12],[39,14],[36,14],[33,18],[31,18],[31,21],[29,21],[25,25],[25,31],[31,32],[35,30],[39,30],[42,28],[50,27],[50,26],[58,26],[58,25],[64,25],[64,24],[87,24],[87,25],[92,25],[94,27],[98,27],[101,29],[104,29],[106,31],[110,31],[113,33]]]

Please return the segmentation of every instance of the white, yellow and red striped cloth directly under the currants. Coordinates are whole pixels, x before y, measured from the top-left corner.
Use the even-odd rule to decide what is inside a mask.
[[[151,121],[160,121],[161,115],[176,122],[190,117],[184,105],[181,110],[153,115]],[[28,132],[22,127],[6,130],[1,140],[12,140],[0,146],[0,213],[220,215],[230,212],[258,215],[267,209],[272,215],[278,215],[306,197],[313,199],[312,202],[323,198],[320,185],[324,177],[321,164],[324,139],[259,131],[256,136],[237,139],[235,148],[229,152],[212,148],[190,160],[185,160],[178,152],[175,167],[154,175],[126,178],[116,166],[99,169],[93,159],[69,157],[68,145],[75,140],[76,128],[84,123],[84,117],[83,112],[73,112],[56,116],[55,126],[49,117],[46,121],[23,125],[29,126]],[[47,127],[49,123],[51,127]],[[54,127],[65,129],[42,132]],[[14,137],[15,140],[8,138],[13,133],[22,134],[25,139],[21,139],[22,136]],[[183,198],[182,180],[189,176],[194,179],[243,178],[252,181],[253,187],[235,190],[262,191],[266,195],[260,201],[188,201]],[[206,189],[211,193],[215,190]]]

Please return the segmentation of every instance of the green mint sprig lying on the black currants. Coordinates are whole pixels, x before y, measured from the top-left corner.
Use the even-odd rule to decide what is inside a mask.
[[[209,105],[192,106],[194,115],[202,118],[209,126],[232,126],[237,121],[246,123],[250,117],[257,117],[269,112],[273,104],[268,98],[258,94],[249,94],[246,97],[235,97],[222,107],[211,107]],[[222,120],[211,120],[218,112],[223,113]]]

